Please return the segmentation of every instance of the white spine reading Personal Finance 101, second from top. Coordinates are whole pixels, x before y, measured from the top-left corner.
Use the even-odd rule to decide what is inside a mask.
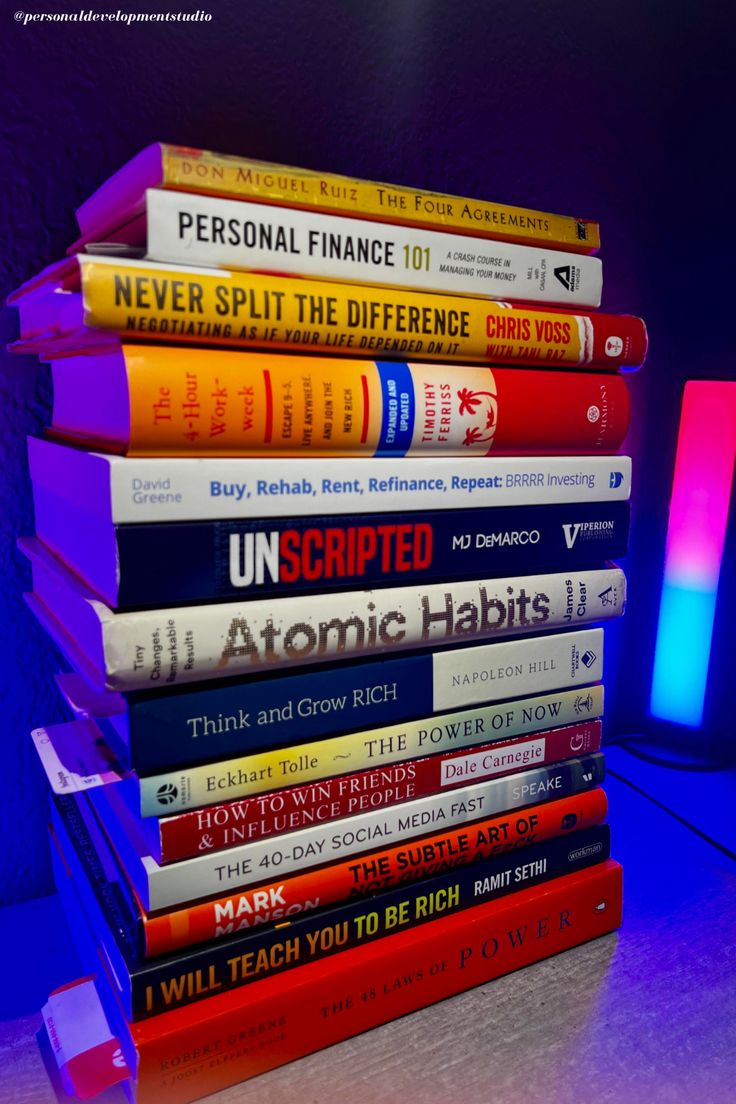
[[[149,261],[600,306],[597,257],[162,189],[146,215]]]

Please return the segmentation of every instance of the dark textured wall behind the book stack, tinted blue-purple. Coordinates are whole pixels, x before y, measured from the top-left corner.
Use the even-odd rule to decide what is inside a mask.
[[[619,668],[612,649],[608,669],[612,723],[636,726],[682,380],[723,374],[733,358],[718,286],[730,233],[733,6],[199,2],[211,22],[168,26],[23,26],[6,6],[0,290],[60,256],[75,205],[156,139],[598,217],[604,306],[644,315],[652,342],[632,383],[633,601],[618,630],[634,661]],[[98,10],[115,7],[99,0]],[[120,7],[166,10],[161,0]],[[704,304],[712,322],[702,329]],[[6,312],[6,336],[13,325]],[[47,417],[42,371],[4,358],[0,395],[2,902],[50,888],[45,787],[26,733],[62,713],[13,546],[32,526],[23,439]]]

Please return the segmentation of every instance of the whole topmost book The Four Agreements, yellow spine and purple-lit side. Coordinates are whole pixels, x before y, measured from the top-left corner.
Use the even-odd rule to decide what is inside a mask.
[[[355,180],[166,142],[141,150],[78,208],[82,240],[77,245],[127,241],[131,233],[142,241],[149,188],[452,231],[572,253],[595,253],[600,245],[598,223],[591,219]]]

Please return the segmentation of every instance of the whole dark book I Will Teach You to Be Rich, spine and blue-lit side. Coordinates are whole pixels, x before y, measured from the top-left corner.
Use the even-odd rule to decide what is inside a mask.
[[[65,864],[81,899],[86,899],[95,934],[116,967],[119,996],[129,1020],[156,1016],[364,946],[396,930],[418,927],[437,916],[604,862],[610,853],[608,826],[598,825],[388,888],[378,895],[343,901],[279,924],[265,924],[146,960],[136,958],[124,931],[115,931],[117,916],[113,907],[105,907],[111,899],[110,883],[104,866],[96,862],[89,834],[73,817],[66,821],[63,816],[54,817],[53,826],[62,859],[58,878],[66,875]]]

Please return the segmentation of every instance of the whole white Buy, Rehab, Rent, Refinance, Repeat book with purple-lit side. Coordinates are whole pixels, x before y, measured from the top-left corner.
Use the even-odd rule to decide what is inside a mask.
[[[154,459],[109,456],[29,438],[34,507],[85,534],[113,526],[225,518],[405,513],[554,502],[627,501],[628,456]]]

